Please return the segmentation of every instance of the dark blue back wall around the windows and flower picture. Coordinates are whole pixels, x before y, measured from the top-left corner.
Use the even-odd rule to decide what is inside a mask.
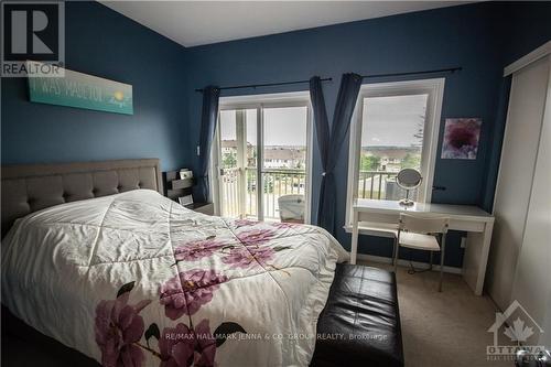
[[[549,3],[521,6],[521,19],[517,19],[518,8],[518,4],[479,3],[188,48],[192,71],[187,96],[188,155],[193,158],[192,164],[197,166],[194,149],[201,120],[201,95],[193,91],[196,87],[306,79],[312,75],[333,77],[333,83],[324,85],[328,115],[332,116],[343,73],[378,74],[462,66],[461,73],[446,77],[442,122],[446,117],[480,117],[484,121],[480,147],[475,161],[436,159],[434,185],[446,190],[434,192],[433,202],[475,204],[489,209],[503,136],[503,121],[498,118],[503,100],[503,67],[506,60],[551,37]],[[526,24],[531,17],[538,20]],[[523,33],[526,26],[530,34]],[[514,30],[520,30],[522,35],[517,35],[516,45],[511,46]],[[238,93],[305,88],[307,86]],[[439,151],[442,133],[441,129]],[[348,141],[342,147],[341,163],[336,168],[339,227],[345,219],[347,153]],[[317,155],[316,144],[314,155]],[[320,176],[321,164],[315,156],[314,208],[317,207]],[[446,265],[461,266],[461,234],[453,233],[450,237]],[[349,238],[343,229],[337,231],[337,239],[346,248]],[[361,238],[359,250],[378,256],[391,255],[388,241],[372,237]],[[409,255],[403,256],[408,258]],[[424,259],[419,253],[412,256],[413,259]]]

